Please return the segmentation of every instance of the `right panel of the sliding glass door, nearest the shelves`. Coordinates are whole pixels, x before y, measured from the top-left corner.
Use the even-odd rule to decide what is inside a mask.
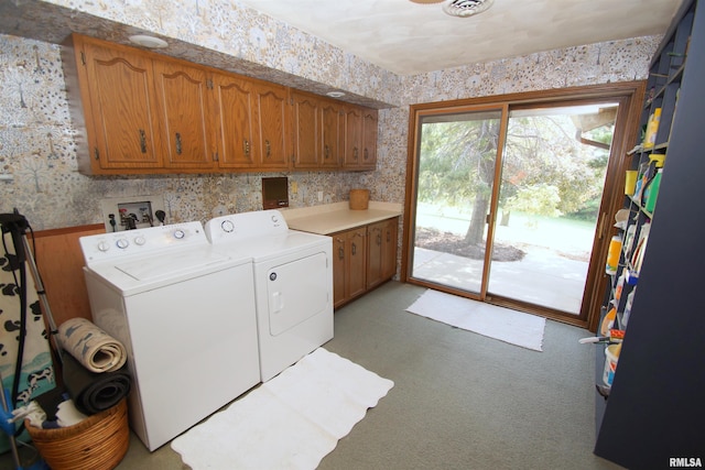
[[[488,296],[579,314],[617,110],[509,112]]]

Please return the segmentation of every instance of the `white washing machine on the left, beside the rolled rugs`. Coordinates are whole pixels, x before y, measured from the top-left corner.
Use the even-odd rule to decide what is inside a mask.
[[[79,239],[93,319],[120,340],[130,425],[150,451],[258,384],[252,264],[200,222]]]

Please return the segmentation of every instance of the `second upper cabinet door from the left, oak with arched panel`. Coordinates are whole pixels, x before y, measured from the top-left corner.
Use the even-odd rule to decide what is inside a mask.
[[[208,122],[207,76],[200,68],[181,63],[154,61],[156,91],[164,136],[166,161],[172,168],[210,168],[214,166],[214,125]]]

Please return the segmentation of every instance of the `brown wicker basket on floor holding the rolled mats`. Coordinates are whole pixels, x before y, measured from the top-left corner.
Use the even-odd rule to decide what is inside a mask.
[[[42,429],[24,422],[34,446],[52,470],[109,470],[130,446],[128,405],[113,407],[59,429]]]

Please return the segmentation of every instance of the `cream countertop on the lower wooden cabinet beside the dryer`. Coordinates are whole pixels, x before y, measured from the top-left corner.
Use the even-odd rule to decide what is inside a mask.
[[[401,204],[370,200],[365,210],[350,210],[348,201],[280,209],[290,229],[330,234],[401,216]]]

